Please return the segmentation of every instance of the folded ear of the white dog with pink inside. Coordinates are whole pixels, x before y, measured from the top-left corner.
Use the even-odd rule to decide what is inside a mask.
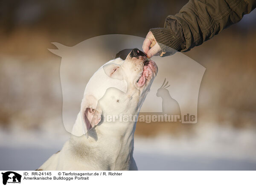
[[[88,131],[99,124],[101,111],[97,109],[98,101],[93,96],[84,96],[81,102],[82,132],[88,137]]]

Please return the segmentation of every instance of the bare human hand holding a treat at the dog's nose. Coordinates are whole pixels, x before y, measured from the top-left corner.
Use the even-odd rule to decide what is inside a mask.
[[[142,49],[147,54],[148,58],[151,58],[153,55],[157,55],[158,52],[161,51],[161,48],[151,31],[148,32],[143,42]]]

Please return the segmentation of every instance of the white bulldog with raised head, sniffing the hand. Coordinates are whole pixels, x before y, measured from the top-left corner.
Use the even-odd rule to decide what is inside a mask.
[[[156,74],[157,65],[139,49],[99,68],[85,88],[73,135],[38,170],[137,170],[136,121],[113,116],[138,116]]]

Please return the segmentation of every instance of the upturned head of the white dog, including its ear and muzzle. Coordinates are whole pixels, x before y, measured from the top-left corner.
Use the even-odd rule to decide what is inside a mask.
[[[156,74],[155,62],[137,48],[125,60],[116,58],[99,68],[81,103],[83,134],[99,124],[102,114],[139,111]]]

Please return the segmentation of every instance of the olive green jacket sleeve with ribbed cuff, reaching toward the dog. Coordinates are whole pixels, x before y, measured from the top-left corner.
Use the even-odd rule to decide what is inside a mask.
[[[163,52],[186,52],[239,22],[255,7],[256,0],[189,0],[179,13],[166,18],[164,28],[150,31]]]

